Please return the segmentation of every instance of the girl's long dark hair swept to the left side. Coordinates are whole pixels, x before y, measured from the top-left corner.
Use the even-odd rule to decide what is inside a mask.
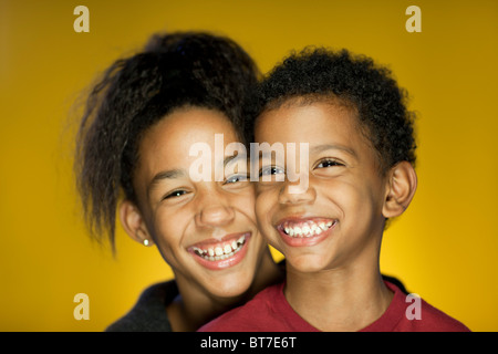
[[[205,32],[156,34],[115,61],[90,92],[76,136],[76,187],[92,236],[106,233],[114,250],[117,202],[137,202],[133,176],[149,127],[177,108],[206,107],[242,137],[242,101],[258,76],[241,46]]]

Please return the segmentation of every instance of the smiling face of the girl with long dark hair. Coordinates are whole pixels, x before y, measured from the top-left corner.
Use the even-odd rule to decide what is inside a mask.
[[[222,298],[248,290],[267,247],[256,226],[253,186],[241,178],[246,156],[225,154],[237,142],[217,111],[167,115],[142,138],[134,179],[141,211],[128,219],[139,226],[138,238],[156,243],[178,284]]]

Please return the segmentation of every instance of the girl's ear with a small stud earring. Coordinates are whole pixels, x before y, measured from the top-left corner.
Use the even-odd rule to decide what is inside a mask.
[[[135,204],[124,200],[120,205],[120,219],[124,230],[132,239],[144,246],[154,244],[144,218]]]

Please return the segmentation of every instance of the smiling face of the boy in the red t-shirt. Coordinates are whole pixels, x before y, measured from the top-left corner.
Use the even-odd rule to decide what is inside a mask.
[[[260,180],[257,187],[260,229],[297,270],[312,272],[378,261],[388,183],[357,124],[351,110],[326,102],[284,105],[258,118],[257,143],[309,143],[307,170],[299,171],[301,176],[309,174],[307,190],[290,192],[299,181],[278,181],[282,176]],[[287,156],[284,162],[263,157],[260,170],[279,175],[289,168],[295,171],[299,164],[300,159]]]

